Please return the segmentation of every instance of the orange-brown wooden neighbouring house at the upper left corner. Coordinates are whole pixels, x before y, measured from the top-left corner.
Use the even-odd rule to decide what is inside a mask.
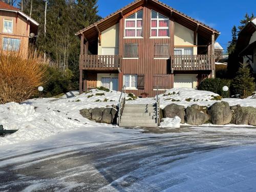
[[[38,25],[19,9],[0,2],[0,50],[27,52],[29,39],[35,40]]]

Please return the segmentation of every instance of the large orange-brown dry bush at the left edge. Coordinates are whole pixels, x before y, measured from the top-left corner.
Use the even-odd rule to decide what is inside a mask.
[[[44,74],[44,63],[39,54],[0,50],[0,103],[22,102],[30,98],[44,83]]]

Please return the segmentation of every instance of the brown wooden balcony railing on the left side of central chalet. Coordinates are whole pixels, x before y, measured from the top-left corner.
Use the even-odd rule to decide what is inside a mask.
[[[122,65],[120,55],[80,55],[80,70],[119,70]]]

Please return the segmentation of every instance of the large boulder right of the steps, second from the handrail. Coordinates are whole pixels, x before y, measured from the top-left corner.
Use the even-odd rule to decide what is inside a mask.
[[[186,109],[185,120],[188,124],[191,125],[200,125],[204,124],[209,120],[209,115],[207,114],[208,108],[206,106],[199,106],[193,104],[188,106]]]

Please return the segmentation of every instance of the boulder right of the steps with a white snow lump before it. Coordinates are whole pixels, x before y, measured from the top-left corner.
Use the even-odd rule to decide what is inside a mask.
[[[182,105],[175,103],[165,106],[163,109],[164,118],[175,118],[175,116],[180,117],[181,123],[185,123],[185,108]]]

